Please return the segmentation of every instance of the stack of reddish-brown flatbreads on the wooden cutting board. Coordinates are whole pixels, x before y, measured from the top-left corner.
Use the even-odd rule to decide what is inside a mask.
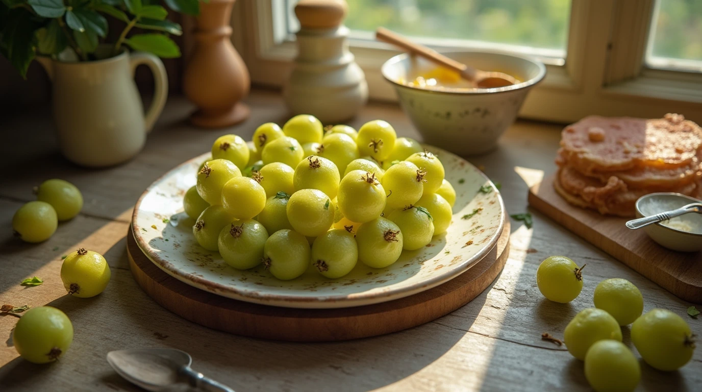
[[[701,197],[701,163],[702,129],[682,115],[590,116],[563,130],[554,185],[578,207],[635,216],[648,193]]]

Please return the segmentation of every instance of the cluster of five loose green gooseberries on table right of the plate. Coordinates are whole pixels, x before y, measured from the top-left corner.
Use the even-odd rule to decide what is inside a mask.
[[[538,267],[541,294],[558,303],[576,299],[583,289],[583,268],[564,256],[550,256]],[[622,343],[621,327],[631,325],[631,341],[643,360],[657,370],[672,371],[692,358],[695,335],[680,315],[665,309],[644,311],[644,299],[632,282],[602,280],[595,287],[594,308],[575,315],[564,330],[569,353],[585,364],[585,378],[595,391],[634,391],[641,368]]]

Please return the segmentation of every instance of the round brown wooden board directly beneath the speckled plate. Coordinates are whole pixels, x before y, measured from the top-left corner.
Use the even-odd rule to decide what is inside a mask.
[[[143,254],[129,230],[129,266],[138,285],[169,311],[205,327],[284,341],[373,337],[430,322],[472,301],[501,273],[509,256],[510,222],[475,266],[449,282],[395,301],[341,309],[279,308],[228,299],[180,282]]]

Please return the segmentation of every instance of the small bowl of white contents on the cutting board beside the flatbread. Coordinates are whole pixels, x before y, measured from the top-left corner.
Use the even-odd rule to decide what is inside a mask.
[[[636,217],[656,215],[664,211],[680,208],[700,200],[680,193],[649,193],[636,201]],[[644,231],[651,240],[663,247],[675,251],[702,250],[702,214],[690,213],[670,219],[670,222],[681,221],[689,224],[690,230],[678,230],[661,223],[644,226]]]

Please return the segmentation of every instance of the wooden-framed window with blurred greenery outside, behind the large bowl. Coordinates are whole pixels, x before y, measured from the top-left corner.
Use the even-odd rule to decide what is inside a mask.
[[[256,84],[282,86],[296,53],[297,0],[237,1],[234,45]],[[380,25],[438,51],[485,48],[547,65],[520,115],[574,122],[587,115],[702,124],[701,0],[347,0],[350,49],[372,99],[396,100],[380,74],[399,53],[373,40]]]

